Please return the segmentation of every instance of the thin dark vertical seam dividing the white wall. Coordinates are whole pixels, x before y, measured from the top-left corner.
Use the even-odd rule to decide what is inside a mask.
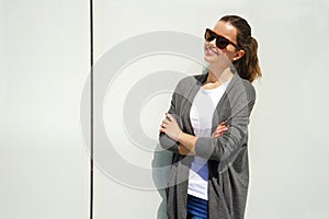
[[[90,0],[90,219],[93,218],[93,8]]]

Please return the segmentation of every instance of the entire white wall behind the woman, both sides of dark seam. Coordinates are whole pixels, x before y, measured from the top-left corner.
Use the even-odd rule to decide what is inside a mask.
[[[89,152],[79,117],[89,73],[88,2],[2,0],[0,7],[0,216],[88,218]],[[95,1],[95,112],[102,114],[94,129],[94,218],[166,218],[155,186],[162,181],[152,175],[170,159],[155,153],[158,125],[178,78],[202,68],[188,56],[202,57],[204,28],[224,14],[250,22],[263,71],[254,82],[246,218],[328,218],[328,9],[326,0]],[[163,36],[152,38],[156,31]],[[184,47],[182,36],[195,46]],[[160,53],[157,43],[172,53]],[[157,87],[155,74],[170,74],[171,84]],[[152,83],[140,90],[145,81]],[[133,89],[145,95],[141,107],[127,107],[140,106]],[[136,120],[124,115],[140,123],[140,139]]]

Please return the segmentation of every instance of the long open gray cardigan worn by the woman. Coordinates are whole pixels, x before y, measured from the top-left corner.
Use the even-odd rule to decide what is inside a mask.
[[[193,99],[207,74],[182,79],[172,95],[169,113],[184,132],[193,134],[190,110]],[[248,124],[256,100],[252,84],[235,73],[213,115],[212,132],[227,120],[229,129],[217,138],[200,137],[195,153],[208,159],[208,218],[242,219],[248,183]],[[167,215],[169,219],[186,218],[189,169],[193,157],[178,153],[178,142],[161,132],[160,146],[173,152],[172,168],[167,187]]]

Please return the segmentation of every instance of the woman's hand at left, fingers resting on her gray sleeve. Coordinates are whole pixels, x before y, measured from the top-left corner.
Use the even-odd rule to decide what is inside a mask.
[[[180,136],[183,132],[173,116],[169,113],[166,114],[166,119],[163,119],[161,123],[160,131],[164,132],[167,136],[169,136],[169,138],[175,141],[180,139]]]

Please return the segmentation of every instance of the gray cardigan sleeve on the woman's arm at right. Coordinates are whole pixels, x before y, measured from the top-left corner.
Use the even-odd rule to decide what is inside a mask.
[[[249,83],[229,95],[231,115],[227,119],[229,129],[217,138],[198,137],[195,142],[195,154],[205,159],[222,161],[235,150],[247,145],[248,124],[250,113],[254,105],[256,92]]]

